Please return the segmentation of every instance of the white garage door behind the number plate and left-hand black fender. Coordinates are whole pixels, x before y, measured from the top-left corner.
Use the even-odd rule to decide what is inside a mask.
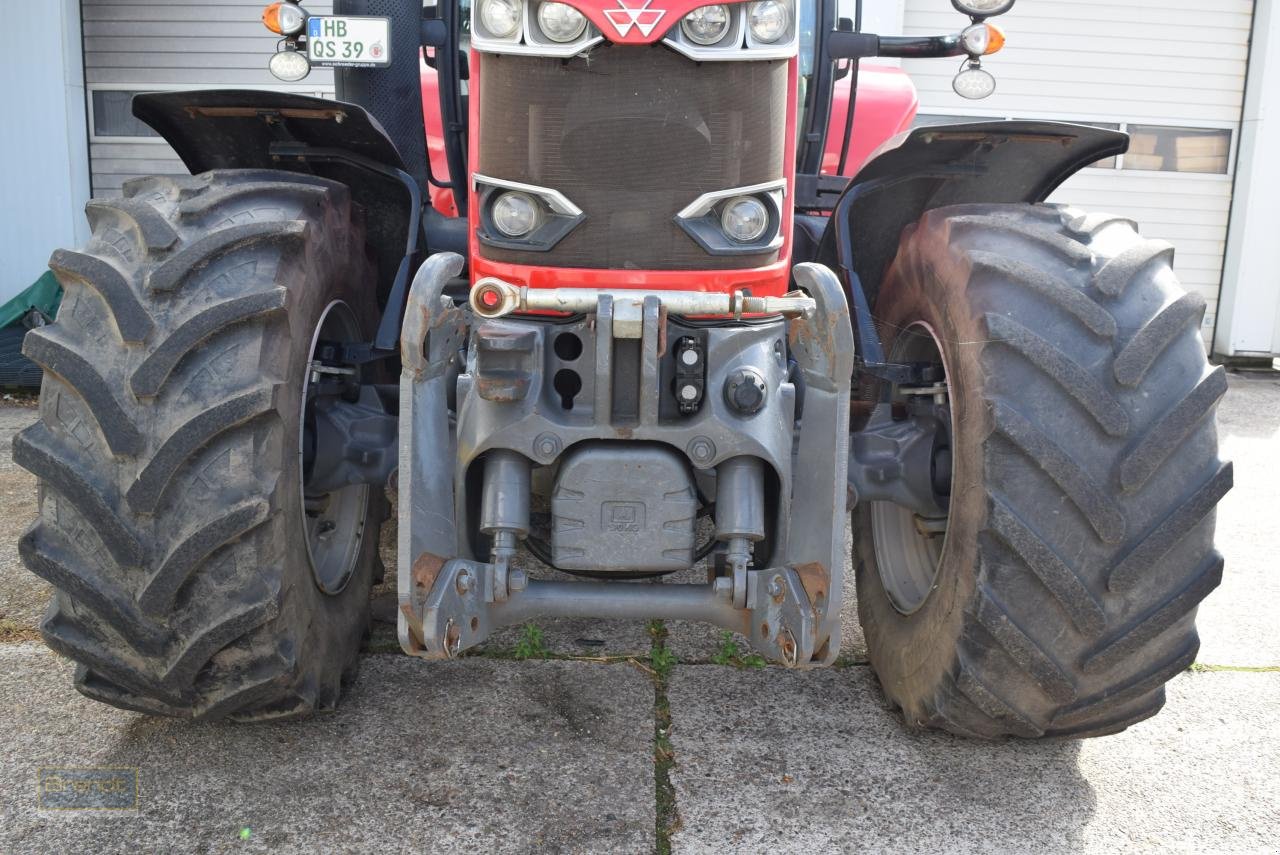
[[[278,37],[262,27],[261,3],[223,0],[82,0],[90,166],[95,196],[118,196],[140,175],[184,174],[173,150],[133,118],[137,92],[257,88],[333,97],[333,73],[317,69],[284,84],[266,63]],[[310,0],[314,14],[330,0]]]

